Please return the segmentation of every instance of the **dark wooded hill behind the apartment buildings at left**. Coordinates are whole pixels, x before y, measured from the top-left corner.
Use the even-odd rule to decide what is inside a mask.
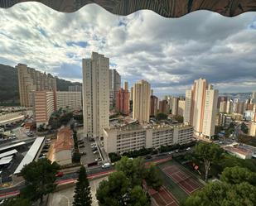
[[[68,91],[71,85],[82,85],[78,82],[70,82],[57,78],[57,90]],[[0,64],[0,105],[18,105],[19,89],[17,79],[17,69]]]

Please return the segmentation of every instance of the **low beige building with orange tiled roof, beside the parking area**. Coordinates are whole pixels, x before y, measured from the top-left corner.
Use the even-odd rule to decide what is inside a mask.
[[[74,149],[73,133],[70,128],[61,128],[57,134],[54,144],[54,158],[59,165],[69,165],[72,163]]]

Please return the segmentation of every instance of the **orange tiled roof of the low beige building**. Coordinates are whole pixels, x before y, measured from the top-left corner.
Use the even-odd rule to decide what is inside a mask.
[[[57,134],[57,140],[55,143],[55,149],[57,151],[70,150],[74,146],[73,132],[70,128],[61,128]]]

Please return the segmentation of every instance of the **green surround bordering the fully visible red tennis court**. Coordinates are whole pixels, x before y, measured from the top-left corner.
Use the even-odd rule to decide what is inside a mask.
[[[162,177],[163,184],[167,187],[167,189],[169,189],[169,191],[176,198],[176,200],[181,203],[188,197],[188,194],[186,194],[186,192],[181,189],[180,185],[176,184],[176,182],[171,180],[171,178],[164,171],[162,171],[162,169],[167,168],[170,165],[176,165],[181,171],[183,171],[187,175],[190,175],[191,178],[196,180],[197,182],[199,182],[198,177],[196,177],[194,174],[191,173],[191,171],[187,170],[183,165],[179,164],[175,160],[170,160],[157,165],[157,168],[160,171],[159,173]]]

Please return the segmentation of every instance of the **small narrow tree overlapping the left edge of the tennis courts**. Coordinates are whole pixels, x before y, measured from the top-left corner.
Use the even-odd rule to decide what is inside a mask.
[[[156,165],[149,165],[146,170],[145,180],[147,182],[147,186],[152,189],[159,190],[162,186],[162,179],[157,171]]]

